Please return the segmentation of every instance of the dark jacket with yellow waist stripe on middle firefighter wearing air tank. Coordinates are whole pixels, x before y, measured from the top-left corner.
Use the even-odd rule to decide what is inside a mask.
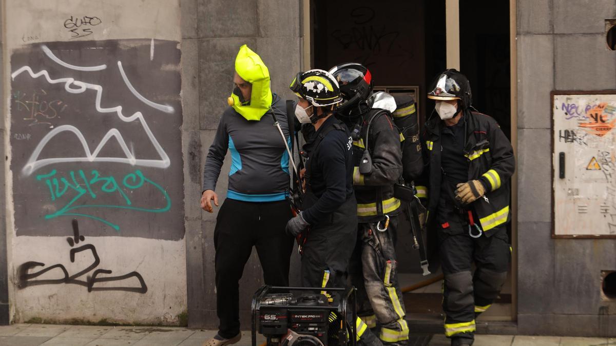
[[[402,139],[389,111],[372,109],[362,116],[360,138],[353,141],[353,185],[359,222],[372,222],[384,219],[385,214],[399,212],[401,203],[394,198],[394,183],[402,175]],[[371,123],[370,132],[368,123]],[[366,144],[372,159],[372,171],[360,174],[359,164]]]

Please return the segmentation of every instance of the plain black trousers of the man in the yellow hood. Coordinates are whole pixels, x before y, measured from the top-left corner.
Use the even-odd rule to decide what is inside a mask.
[[[288,201],[245,202],[227,198],[222,203],[214,228],[214,249],[218,333],[225,339],[240,332],[239,281],[253,246],[259,255],[265,284],[289,285],[293,251],[293,238],[285,232],[289,219]]]

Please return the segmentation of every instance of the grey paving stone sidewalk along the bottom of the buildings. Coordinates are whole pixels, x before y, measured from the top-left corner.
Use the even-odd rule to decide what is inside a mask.
[[[201,346],[216,331],[172,327],[70,326],[62,324],[13,324],[0,326],[0,346]],[[257,338],[257,345],[264,342]],[[238,346],[250,345],[250,332],[242,332]],[[430,346],[449,346],[442,335]],[[477,335],[474,346],[616,346],[606,337],[553,337]]]

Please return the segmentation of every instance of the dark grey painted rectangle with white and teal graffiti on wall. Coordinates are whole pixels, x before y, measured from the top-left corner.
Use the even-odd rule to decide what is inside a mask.
[[[178,42],[33,44],[11,78],[18,236],[184,236]]]

